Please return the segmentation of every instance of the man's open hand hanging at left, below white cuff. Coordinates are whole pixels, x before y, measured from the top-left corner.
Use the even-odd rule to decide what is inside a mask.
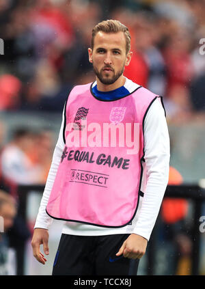
[[[45,264],[47,261],[44,255],[40,252],[40,245],[43,245],[44,253],[49,255],[49,231],[46,229],[36,228],[33,232],[31,246],[33,247],[33,256],[38,262]]]

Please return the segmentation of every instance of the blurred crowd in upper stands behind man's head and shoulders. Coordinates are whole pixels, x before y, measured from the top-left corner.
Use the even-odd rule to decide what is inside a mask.
[[[204,11],[204,0],[1,0],[0,110],[61,111],[73,85],[94,81],[92,28],[115,18],[132,36],[126,77],[164,96],[169,122],[203,118]]]

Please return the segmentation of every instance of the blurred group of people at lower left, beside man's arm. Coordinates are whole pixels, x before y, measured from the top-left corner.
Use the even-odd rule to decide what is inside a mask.
[[[23,275],[25,247],[35,219],[27,218],[28,196],[19,186],[44,186],[54,135],[46,128],[20,126],[5,143],[8,132],[1,122],[0,131],[0,275]]]

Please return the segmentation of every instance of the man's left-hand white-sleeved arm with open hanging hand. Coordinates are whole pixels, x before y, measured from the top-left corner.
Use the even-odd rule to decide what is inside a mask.
[[[65,109],[65,107],[64,107]],[[40,245],[43,245],[44,253],[49,255],[49,226],[53,222],[53,219],[46,214],[46,205],[49,201],[49,196],[51,194],[51,189],[53,187],[53,182],[57,174],[57,168],[61,161],[61,154],[64,150],[64,111],[61,122],[61,128],[59,131],[59,137],[53,152],[53,159],[51,167],[49,170],[49,175],[46,180],[46,185],[42,199],[40,202],[40,208],[38,210],[38,216],[36,218],[36,223],[34,226],[33,238],[31,240],[31,246],[33,248],[33,256],[38,260],[38,262],[45,264],[46,258],[40,252]]]

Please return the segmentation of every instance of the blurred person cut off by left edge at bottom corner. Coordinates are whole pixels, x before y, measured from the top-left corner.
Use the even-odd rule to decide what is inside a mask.
[[[16,216],[16,203],[14,199],[4,191],[0,191],[0,216],[1,225],[3,227],[3,232],[0,230],[0,275],[8,275],[8,250],[10,244],[7,232],[14,223],[14,218]]]

